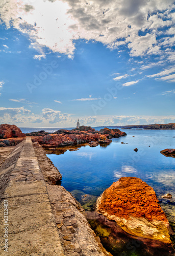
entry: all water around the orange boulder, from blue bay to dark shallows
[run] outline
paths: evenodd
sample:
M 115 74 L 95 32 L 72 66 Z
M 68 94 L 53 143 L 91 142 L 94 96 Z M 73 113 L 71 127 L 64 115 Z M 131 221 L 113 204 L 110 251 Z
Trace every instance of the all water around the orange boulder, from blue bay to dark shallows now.
M 175 148 L 173 130 L 123 130 L 128 135 L 114 138 L 107 147 L 79 147 L 78 151 L 66 151 L 61 155 L 48 155 L 62 174 L 62 185 L 72 193 L 86 210 L 93 210 L 96 197 L 101 195 L 120 177 L 138 177 L 156 191 L 161 207 L 170 223 L 171 241 L 175 245 L 175 158 L 160 153 L 165 148 Z M 134 137 L 133 137 L 134 136 Z M 126 144 L 121 144 L 124 142 Z M 128 143 L 128 144 L 127 144 Z M 138 148 L 138 152 L 134 148 Z M 172 199 L 161 196 L 170 193 Z M 84 195 L 87 194 L 86 197 Z M 93 211 L 89 212 L 93 215 Z M 103 246 L 113 256 L 174 256 L 167 245 L 152 245 L 149 240 L 137 245 L 137 237 L 117 233 L 114 222 L 100 222 L 98 217 L 89 223 Z M 109 223 L 108 223 L 109 222 Z M 107 224 L 108 223 L 108 224 Z M 137 246 L 133 247 L 133 243 Z M 161 247 L 162 246 L 162 247 Z M 133 248 L 133 250 L 131 250 Z

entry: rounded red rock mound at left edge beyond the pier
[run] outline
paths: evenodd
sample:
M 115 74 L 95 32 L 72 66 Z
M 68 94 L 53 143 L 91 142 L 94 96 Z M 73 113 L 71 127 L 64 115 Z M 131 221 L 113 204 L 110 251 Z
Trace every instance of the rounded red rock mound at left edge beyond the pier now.
M 7 139 L 12 137 L 26 137 L 25 134 L 16 125 L 1 124 L 0 125 L 0 139 Z

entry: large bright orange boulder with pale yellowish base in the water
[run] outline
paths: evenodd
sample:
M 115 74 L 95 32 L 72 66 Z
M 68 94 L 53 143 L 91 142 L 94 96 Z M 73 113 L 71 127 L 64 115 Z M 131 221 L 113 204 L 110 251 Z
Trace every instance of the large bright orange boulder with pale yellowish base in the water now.
M 97 199 L 96 210 L 135 236 L 171 243 L 169 222 L 151 186 L 122 177 Z

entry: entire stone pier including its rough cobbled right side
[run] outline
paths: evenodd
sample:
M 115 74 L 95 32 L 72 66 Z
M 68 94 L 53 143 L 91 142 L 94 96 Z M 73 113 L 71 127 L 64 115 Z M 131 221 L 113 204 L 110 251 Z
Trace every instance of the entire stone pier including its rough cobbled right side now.
M 30 137 L 14 147 L 0 168 L 1 255 L 110 255 L 60 179 Z

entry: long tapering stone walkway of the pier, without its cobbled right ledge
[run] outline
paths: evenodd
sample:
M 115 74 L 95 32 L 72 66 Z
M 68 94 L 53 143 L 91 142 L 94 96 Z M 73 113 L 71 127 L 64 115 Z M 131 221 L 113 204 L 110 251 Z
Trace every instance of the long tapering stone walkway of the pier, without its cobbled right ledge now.
M 18 144 L 2 165 L 0 191 L 1 220 L 7 212 L 4 202 L 8 202 L 8 222 L 0 227 L 1 234 L 8 227 L 8 252 L 2 235 L 1 255 L 65 255 L 30 137 Z

